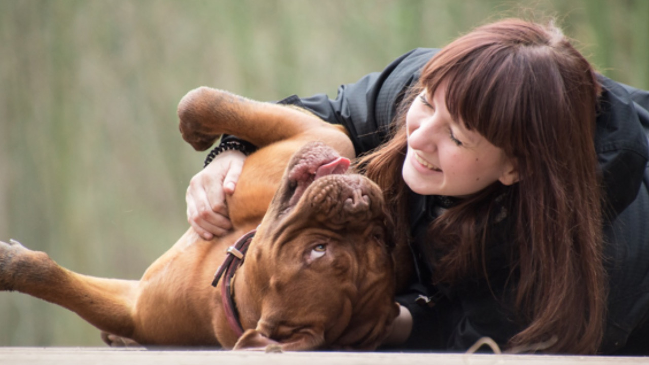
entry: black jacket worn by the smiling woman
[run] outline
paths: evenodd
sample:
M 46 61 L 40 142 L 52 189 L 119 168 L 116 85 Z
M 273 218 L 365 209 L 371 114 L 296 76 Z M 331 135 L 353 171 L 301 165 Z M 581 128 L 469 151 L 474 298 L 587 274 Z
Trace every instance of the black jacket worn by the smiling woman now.
M 344 125 L 352 136 L 356 154 L 384 142 L 387 126 L 396 114 L 404 90 L 417 81 L 420 70 L 436 49 L 415 49 L 398 58 L 384 71 L 371 73 L 354 84 L 343 85 L 336 99 L 320 94 L 300 99 L 297 95 L 280 103 L 300 105 L 329 121 Z M 610 294 L 607 327 L 601 351 L 624 350 L 628 339 L 644 338 L 643 324 L 649 316 L 649 93 L 600 76 L 604 87 L 597 118 L 596 150 L 607 198 L 606 268 Z M 417 275 L 410 290 L 398 296 L 413 315 L 413 332 L 406 347 L 464 351 L 482 336 L 505 344 L 520 325 L 506 300 L 502 284 L 509 273 L 506 249 L 492 255 L 489 283 L 476 278 L 445 288 L 430 284 L 430 268 L 419 246 L 426 244 L 423 231 L 439 207 L 435 197 L 412 194 L 411 243 Z M 508 231 L 504 220 L 502 232 Z M 502 238 L 505 240 L 505 238 Z M 497 244 L 496 244 L 497 246 Z M 422 304 L 424 296 L 433 307 Z M 649 329 L 649 323 L 646 327 Z M 631 344 L 629 346 L 632 346 Z M 642 347 L 644 348 L 644 347 Z

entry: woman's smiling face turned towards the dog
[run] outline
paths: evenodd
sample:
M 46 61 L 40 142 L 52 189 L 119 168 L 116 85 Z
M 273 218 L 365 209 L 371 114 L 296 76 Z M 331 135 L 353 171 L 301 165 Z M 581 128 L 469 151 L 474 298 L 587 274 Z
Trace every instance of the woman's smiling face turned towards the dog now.
M 495 181 L 515 183 L 515 165 L 504 151 L 452 120 L 445 94 L 445 84 L 434 95 L 424 90 L 408 110 L 406 184 L 417 194 L 465 197 Z

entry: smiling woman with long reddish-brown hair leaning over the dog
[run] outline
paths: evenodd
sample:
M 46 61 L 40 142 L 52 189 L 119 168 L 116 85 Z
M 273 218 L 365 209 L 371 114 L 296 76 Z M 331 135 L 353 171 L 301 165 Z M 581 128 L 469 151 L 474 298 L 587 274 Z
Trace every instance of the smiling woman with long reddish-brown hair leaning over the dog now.
M 396 212 L 417 270 L 393 342 L 611 353 L 633 351 L 649 313 L 648 100 L 596 75 L 556 27 L 508 19 L 336 100 L 283 102 L 345 125 Z M 228 151 L 192 179 L 188 217 L 206 237 L 228 228 L 220 202 L 242 160 Z

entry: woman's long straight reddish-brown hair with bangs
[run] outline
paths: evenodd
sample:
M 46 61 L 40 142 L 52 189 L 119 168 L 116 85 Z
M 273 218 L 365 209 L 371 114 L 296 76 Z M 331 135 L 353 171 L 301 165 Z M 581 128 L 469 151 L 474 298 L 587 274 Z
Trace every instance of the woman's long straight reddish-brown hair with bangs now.
M 600 86 L 593 68 L 554 25 L 519 19 L 484 25 L 439 51 L 404 97 L 393 138 L 360 160 L 384 188 L 402 240 L 409 231 L 401 177 L 405 111 L 423 88 L 432 94 L 441 82 L 448 84 L 452 118 L 513 158 L 520 180 L 510 187 L 496 182 L 432 223 L 431 251 L 443 253 L 434 280 L 452 284 L 485 271 L 495 220 L 489 214 L 498 200 L 511 220 L 514 304 L 526 326 L 508 345 L 556 335 L 548 351 L 595 353 L 607 291 L 594 149 Z

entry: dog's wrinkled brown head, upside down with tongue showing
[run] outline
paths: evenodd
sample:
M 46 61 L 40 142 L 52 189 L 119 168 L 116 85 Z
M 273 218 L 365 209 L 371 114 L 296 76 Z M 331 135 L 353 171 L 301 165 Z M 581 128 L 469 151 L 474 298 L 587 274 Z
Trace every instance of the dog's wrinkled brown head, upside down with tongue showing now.
M 235 348 L 374 349 L 398 314 L 382 192 L 349 160 L 293 155 L 246 257 L 258 322 Z

